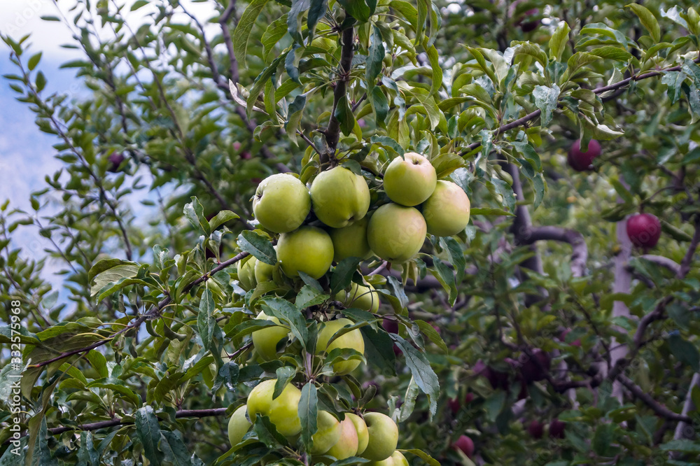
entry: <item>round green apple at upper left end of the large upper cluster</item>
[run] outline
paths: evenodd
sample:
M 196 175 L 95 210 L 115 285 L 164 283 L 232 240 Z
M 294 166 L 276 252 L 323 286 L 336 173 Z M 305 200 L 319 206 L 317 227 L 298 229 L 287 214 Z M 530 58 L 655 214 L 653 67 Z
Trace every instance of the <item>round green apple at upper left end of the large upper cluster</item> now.
M 253 196 L 253 213 L 271 232 L 296 230 L 311 211 L 311 196 L 304 183 L 290 174 L 276 174 L 260 181 Z

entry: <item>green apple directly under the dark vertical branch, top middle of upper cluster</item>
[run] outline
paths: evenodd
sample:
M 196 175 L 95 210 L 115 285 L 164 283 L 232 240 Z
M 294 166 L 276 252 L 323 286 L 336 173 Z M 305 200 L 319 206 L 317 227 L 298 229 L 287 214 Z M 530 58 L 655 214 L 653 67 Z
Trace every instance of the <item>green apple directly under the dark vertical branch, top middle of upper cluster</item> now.
M 370 188 L 365 178 L 344 167 L 321 171 L 311 183 L 311 205 L 325 225 L 346 227 L 367 213 Z

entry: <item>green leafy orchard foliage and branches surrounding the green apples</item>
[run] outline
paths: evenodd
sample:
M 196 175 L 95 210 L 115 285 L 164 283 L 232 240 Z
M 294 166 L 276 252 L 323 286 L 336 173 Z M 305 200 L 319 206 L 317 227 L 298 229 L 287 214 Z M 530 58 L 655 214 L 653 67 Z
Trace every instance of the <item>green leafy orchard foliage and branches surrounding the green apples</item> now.
M 89 97 L 49 94 L 31 38 L 2 36 L 6 82 L 64 168 L 30 209 L 1 206 L 24 367 L 14 414 L 18 355 L 1 354 L 1 464 L 367 464 L 309 454 L 321 411 L 388 414 L 412 465 L 700 463 L 694 2 L 67 3 L 44 19 L 73 31 L 81 58 L 62 66 Z M 468 195 L 464 230 L 402 264 L 285 274 L 253 220 L 262 179 L 345 167 L 372 215 L 411 152 Z M 638 213 L 658 223 L 630 239 Z M 650 250 L 636 235 L 657 225 Z M 61 287 L 12 241 L 29 234 Z M 369 285 L 378 309 L 348 297 Z M 316 352 L 334 313 L 363 352 Z M 2 318 L 9 345 L 10 304 Z M 263 358 L 253 334 L 280 324 Z M 272 379 L 300 390 L 298 437 L 248 400 L 230 445 Z

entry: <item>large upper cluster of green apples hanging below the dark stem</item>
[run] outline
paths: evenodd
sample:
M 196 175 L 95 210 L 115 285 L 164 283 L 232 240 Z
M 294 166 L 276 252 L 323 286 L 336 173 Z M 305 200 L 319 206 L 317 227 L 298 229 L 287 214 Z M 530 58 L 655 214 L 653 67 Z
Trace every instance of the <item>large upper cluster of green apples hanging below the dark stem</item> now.
M 383 181 L 391 202 L 372 210 L 363 176 L 342 166 L 322 171 L 310 189 L 290 174 L 261 181 L 253 213 L 265 230 L 279 233 L 275 249 L 283 273 L 295 278 L 302 271 L 321 278 L 334 261 L 372 255 L 401 264 L 421 250 L 426 233 L 452 236 L 469 223 L 465 192 L 451 181 L 438 181 L 423 155 L 395 157 Z M 312 209 L 323 228 L 304 225 Z M 274 270 L 251 259 L 239 265 L 239 281 L 243 288 L 254 288 L 260 281 L 279 279 Z

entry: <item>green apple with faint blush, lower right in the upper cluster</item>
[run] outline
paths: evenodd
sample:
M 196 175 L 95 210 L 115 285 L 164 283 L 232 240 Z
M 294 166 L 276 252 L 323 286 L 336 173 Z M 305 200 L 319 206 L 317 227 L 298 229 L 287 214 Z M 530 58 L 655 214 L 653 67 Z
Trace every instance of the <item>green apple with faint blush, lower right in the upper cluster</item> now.
M 417 209 L 384 204 L 370 218 L 367 242 L 382 259 L 402 263 L 421 250 L 426 231 L 426 220 Z

